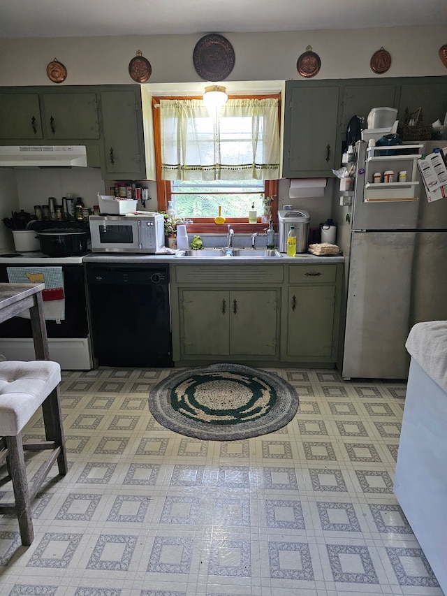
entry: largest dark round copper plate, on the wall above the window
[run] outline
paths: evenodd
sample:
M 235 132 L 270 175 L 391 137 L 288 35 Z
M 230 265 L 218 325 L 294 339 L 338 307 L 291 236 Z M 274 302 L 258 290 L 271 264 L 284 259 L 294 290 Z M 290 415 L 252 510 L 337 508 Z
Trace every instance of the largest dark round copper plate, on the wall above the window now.
M 196 73 L 205 80 L 226 79 L 235 65 L 235 52 L 228 39 L 212 33 L 196 43 L 193 51 Z

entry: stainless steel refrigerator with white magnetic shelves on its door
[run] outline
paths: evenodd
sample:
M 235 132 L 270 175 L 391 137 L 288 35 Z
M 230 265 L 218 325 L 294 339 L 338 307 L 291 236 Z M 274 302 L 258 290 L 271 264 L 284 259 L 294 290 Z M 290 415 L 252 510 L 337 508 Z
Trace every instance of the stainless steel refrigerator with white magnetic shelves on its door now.
M 411 177 L 411 163 L 368 163 L 367 143 L 357 147 L 353 204 L 340 230 L 349 238 L 342 377 L 406 379 L 411 327 L 447 319 L 447 198 L 429 203 L 416 167 L 413 183 L 404 186 L 414 190 L 410 200 L 365 200 L 386 190 L 372 187 L 374 170 L 394 169 L 397 176 L 402 169 Z

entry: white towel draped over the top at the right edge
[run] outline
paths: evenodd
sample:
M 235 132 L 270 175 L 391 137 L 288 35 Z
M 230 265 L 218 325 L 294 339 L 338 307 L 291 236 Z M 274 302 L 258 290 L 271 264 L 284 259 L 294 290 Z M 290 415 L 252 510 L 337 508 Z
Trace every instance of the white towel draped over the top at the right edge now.
M 416 323 L 405 347 L 430 379 L 447 391 L 447 321 Z

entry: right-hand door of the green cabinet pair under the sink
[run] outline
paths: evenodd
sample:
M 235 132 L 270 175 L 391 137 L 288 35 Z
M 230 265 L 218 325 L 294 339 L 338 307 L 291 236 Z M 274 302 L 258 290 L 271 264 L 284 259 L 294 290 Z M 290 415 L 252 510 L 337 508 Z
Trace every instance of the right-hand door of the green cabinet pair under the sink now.
M 230 354 L 276 356 L 277 290 L 230 292 Z

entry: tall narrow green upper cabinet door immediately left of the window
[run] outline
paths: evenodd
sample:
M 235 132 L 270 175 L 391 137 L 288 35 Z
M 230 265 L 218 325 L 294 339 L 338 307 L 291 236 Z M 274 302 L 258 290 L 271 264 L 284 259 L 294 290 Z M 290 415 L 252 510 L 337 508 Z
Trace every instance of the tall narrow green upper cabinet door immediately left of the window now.
M 142 122 L 133 91 L 101 93 L 105 172 L 122 177 L 144 177 Z

